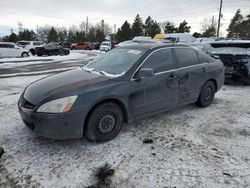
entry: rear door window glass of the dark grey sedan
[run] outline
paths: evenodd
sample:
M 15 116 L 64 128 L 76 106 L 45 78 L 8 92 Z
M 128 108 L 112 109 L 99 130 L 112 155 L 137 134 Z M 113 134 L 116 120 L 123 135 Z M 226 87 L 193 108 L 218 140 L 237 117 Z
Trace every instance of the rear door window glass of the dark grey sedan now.
M 176 48 L 176 59 L 178 68 L 199 64 L 196 51 L 191 48 Z

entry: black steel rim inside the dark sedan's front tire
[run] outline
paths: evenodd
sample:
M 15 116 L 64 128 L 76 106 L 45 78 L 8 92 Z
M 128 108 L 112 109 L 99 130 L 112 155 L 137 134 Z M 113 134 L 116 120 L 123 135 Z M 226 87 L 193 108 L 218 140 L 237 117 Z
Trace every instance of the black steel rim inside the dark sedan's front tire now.
M 113 112 L 103 113 L 97 124 L 97 131 L 99 134 L 105 135 L 113 131 L 116 125 L 116 115 Z

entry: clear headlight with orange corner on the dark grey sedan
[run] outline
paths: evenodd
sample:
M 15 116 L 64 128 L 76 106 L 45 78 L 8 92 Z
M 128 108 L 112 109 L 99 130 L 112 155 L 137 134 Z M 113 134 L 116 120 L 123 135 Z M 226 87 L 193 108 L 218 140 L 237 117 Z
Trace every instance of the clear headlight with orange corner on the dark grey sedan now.
M 59 113 L 59 112 L 68 112 L 73 106 L 77 95 L 64 97 L 49 101 L 37 109 L 37 112 L 47 112 L 47 113 Z

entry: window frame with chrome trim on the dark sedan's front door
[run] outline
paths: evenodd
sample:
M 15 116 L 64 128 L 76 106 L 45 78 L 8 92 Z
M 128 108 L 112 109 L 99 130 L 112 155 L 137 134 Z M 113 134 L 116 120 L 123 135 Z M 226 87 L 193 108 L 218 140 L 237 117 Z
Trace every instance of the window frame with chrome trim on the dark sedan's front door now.
M 171 49 L 171 51 L 172 51 L 172 56 L 173 56 L 173 65 L 174 65 L 173 69 L 172 69 L 172 70 L 167 70 L 167 71 L 162 71 L 162 72 L 154 73 L 154 76 L 155 76 L 155 75 L 159 75 L 159 74 L 164 74 L 164 73 L 167 73 L 167 72 L 170 72 L 170 71 L 173 71 L 173 70 L 176 70 L 176 68 L 177 68 L 177 67 L 176 67 L 176 57 L 175 57 L 175 55 L 174 55 L 173 47 L 158 48 L 158 49 L 155 49 L 154 51 L 150 52 L 150 53 L 147 55 L 147 57 L 146 57 L 146 58 L 142 61 L 142 63 L 137 67 L 136 71 L 132 74 L 132 77 L 131 77 L 130 81 L 136 80 L 136 78 L 135 78 L 136 73 L 140 70 L 140 68 L 142 67 L 142 65 L 146 62 L 146 60 L 147 60 L 153 53 L 155 53 L 155 52 L 157 52 L 157 51 L 160 51 L 160 50 L 169 49 L 169 48 Z

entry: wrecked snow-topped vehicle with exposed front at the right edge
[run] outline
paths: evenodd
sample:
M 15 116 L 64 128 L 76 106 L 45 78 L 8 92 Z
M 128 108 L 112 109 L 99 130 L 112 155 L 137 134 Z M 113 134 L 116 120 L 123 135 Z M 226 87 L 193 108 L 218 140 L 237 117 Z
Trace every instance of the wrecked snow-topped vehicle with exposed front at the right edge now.
M 203 47 L 203 51 L 225 65 L 227 82 L 250 84 L 250 41 L 224 40 L 211 42 Z

